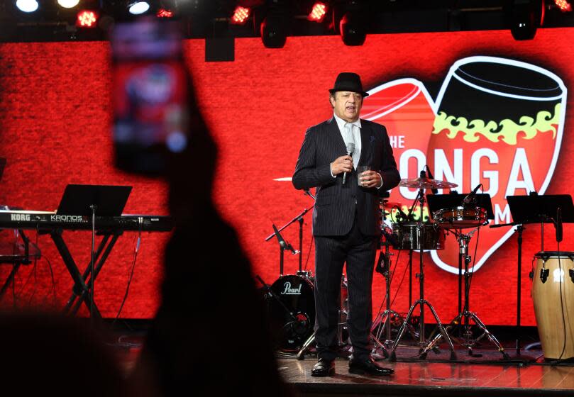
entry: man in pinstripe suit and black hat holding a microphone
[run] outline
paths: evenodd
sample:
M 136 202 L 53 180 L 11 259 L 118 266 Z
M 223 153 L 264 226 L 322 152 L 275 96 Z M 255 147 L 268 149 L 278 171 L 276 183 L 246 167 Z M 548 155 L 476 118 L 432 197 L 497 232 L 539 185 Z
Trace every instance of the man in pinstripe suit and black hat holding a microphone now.
M 339 74 L 329 91 L 333 117 L 307 130 L 293 175 L 295 189 L 316 187 L 313 235 L 319 361 L 311 375 L 334 374 L 338 295 L 345 262 L 347 324 L 353 345 L 349 372 L 389 375 L 392 369 L 379 367 L 370 358 L 371 284 L 380 236 L 379 197 L 397 186 L 400 176 L 385 127 L 359 118 L 368 93 L 358 74 Z M 371 171 L 362 174 L 359 185 L 355 169 L 363 165 Z

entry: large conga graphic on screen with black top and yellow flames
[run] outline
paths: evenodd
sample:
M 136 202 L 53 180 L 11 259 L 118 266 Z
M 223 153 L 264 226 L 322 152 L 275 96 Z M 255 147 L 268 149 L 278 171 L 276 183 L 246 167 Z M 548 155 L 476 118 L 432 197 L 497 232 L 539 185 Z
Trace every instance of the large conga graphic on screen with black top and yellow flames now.
M 455 62 L 436 99 L 427 152 L 436 179 L 465 193 L 478 184 L 492 197 L 495 223 L 511 221 L 506 196 L 543 194 L 560 151 L 566 88 L 546 69 L 497 57 Z M 474 271 L 514 229 L 482 228 Z M 458 243 L 431 252 L 434 262 L 458 273 Z

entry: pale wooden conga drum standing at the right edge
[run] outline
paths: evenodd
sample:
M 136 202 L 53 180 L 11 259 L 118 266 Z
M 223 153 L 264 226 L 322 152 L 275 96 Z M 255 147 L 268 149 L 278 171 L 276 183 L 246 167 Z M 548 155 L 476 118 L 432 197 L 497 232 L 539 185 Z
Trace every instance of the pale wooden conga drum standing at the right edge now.
M 531 295 L 544 358 L 570 359 L 574 357 L 574 282 L 570 276 L 574 252 L 539 252 L 534 258 Z

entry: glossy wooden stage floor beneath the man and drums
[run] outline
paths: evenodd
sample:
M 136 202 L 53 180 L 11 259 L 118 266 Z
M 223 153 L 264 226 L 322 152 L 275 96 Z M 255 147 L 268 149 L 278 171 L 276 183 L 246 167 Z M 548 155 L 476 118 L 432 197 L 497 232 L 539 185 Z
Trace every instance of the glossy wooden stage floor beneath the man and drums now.
M 457 352 L 459 354 L 459 352 Z M 462 352 L 464 353 L 464 352 Z M 492 353 L 497 353 L 496 351 Z M 279 358 L 283 379 L 302 396 L 573 396 L 574 366 L 552 366 L 543 360 L 483 362 L 457 360 L 379 361 L 394 369 L 392 376 L 360 376 L 348 373 L 347 359 L 336 360 L 335 376 L 311 376 L 316 362 Z M 460 357 L 460 354 L 459 354 Z M 516 357 L 514 355 L 514 357 Z M 522 357 L 522 355 L 521 355 Z

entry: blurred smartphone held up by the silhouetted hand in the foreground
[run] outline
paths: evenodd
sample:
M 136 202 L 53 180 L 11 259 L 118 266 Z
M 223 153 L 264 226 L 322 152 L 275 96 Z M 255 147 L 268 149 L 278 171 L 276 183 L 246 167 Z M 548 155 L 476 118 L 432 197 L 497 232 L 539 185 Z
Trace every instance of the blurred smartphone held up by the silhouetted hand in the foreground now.
M 180 25 L 159 18 L 111 32 L 114 156 L 119 169 L 161 175 L 189 144 Z

